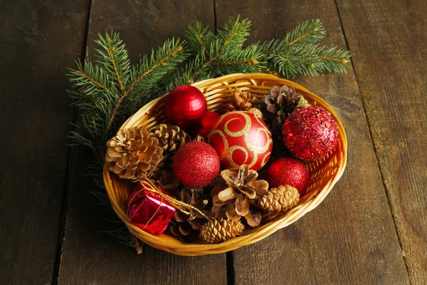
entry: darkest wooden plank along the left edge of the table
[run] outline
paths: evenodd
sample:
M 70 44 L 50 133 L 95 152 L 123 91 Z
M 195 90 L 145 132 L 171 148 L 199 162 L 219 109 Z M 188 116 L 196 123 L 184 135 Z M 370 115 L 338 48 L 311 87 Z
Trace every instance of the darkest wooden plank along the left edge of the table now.
M 69 123 L 66 67 L 83 48 L 88 1 L 1 1 L 1 284 L 49 284 Z

